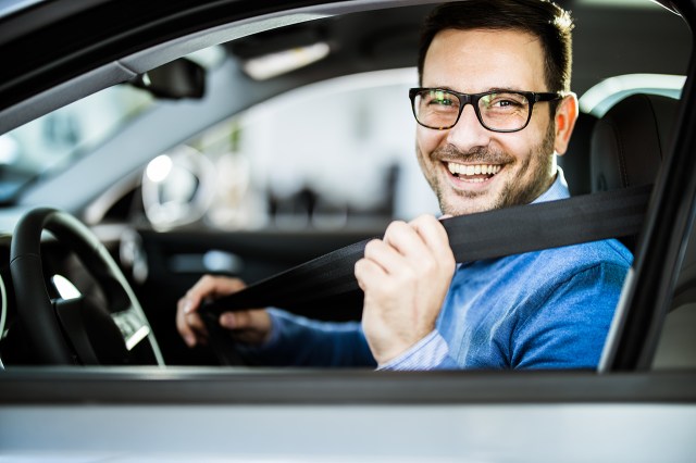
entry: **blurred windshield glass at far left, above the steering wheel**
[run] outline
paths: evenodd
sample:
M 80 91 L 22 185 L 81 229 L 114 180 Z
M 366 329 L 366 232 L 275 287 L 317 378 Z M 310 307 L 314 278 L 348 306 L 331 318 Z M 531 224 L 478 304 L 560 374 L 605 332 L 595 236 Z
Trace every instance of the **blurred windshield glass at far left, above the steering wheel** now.
M 0 136 L 0 202 L 13 202 L 30 182 L 75 162 L 152 102 L 148 92 L 120 85 Z

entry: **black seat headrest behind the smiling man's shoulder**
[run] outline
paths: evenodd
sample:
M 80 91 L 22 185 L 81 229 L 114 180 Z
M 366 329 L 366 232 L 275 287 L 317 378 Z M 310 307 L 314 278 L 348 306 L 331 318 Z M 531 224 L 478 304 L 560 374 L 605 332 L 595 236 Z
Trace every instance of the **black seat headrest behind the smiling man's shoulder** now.
M 663 96 L 632 95 L 595 124 L 589 160 L 593 192 L 655 183 L 678 104 Z

